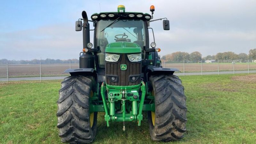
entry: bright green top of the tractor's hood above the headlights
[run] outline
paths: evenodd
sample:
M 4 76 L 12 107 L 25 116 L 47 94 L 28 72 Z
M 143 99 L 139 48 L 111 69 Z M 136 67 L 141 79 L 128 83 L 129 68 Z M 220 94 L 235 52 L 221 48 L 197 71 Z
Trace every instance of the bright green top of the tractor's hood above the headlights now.
M 107 53 L 141 53 L 139 44 L 131 42 L 115 42 L 106 46 Z

